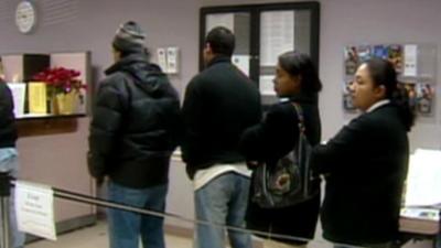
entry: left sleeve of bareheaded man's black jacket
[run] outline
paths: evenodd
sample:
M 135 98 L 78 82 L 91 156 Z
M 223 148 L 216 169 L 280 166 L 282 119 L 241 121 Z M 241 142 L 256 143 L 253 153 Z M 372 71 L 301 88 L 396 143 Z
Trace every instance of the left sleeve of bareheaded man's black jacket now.
M 182 159 L 185 163 L 194 163 L 197 153 L 203 147 L 202 140 L 202 118 L 203 99 L 201 89 L 197 87 L 196 80 L 190 82 L 182 107 L 182 118 L 185 127 L 184 139 L 181 143 Z

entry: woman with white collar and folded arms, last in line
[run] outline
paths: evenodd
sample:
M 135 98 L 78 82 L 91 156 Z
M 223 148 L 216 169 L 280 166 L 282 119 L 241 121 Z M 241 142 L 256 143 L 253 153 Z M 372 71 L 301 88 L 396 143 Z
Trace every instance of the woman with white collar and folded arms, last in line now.
M 311 155 L 312 168 L 326 175 L 323 236 L 334 244 L 390 247 L 398 234 L 413 112 L 385 60 L 362 64 L 351 89 L 363 114 Z

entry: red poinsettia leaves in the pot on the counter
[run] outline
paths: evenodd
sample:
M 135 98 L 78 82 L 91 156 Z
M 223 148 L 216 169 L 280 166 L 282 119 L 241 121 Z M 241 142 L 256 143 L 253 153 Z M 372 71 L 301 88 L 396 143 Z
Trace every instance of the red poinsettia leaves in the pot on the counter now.
M 78 78 L 80 75 L 80 72 L 75 69 L 54 67 L 37 73 L 32 79 L 46 83 L 49 89 L 54 90 L 55 94 L 71 93 L 73 90 L 86 88 L 86 85 Z

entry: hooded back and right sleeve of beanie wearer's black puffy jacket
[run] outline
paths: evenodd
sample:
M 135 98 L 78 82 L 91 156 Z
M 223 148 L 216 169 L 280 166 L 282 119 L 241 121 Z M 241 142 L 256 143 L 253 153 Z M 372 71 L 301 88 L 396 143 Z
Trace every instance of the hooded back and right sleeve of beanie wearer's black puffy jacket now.
M 181 129 L 178 93 L 143 55 L 128 56 L 106 73 L 103 87 L 118 88 L 127 100 L 109 176 L 132 187 L 168 183 L 169 160 Z

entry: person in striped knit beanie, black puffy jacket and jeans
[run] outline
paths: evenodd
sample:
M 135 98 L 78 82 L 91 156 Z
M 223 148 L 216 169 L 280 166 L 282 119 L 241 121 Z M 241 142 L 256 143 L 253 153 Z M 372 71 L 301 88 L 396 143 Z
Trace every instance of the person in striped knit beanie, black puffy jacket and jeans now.
M 180 101 L 148 61 L 135 22 L 114 39 L 115 64 L 99 84 L 89 137 L 89 171 L 109 177 L 108 200 L 164 212 L 171 155 L 179 143 Z M 163 218 L 108 209 L 111 248 L 164 248 Z

